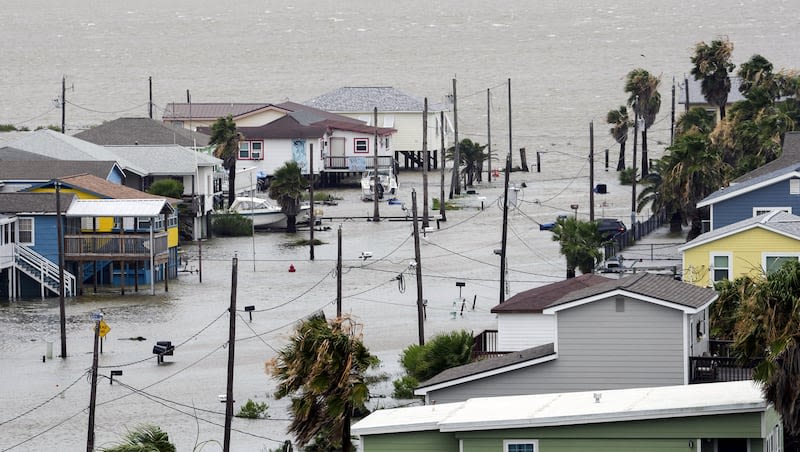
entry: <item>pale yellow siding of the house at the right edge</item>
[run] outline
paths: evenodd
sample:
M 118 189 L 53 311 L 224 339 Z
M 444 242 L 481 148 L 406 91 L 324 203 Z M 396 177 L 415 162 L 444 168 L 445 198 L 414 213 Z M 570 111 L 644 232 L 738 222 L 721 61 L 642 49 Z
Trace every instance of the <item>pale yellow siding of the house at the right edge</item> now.
M 683 280 L 700 287 L 708 287 L 711 256 L 726 253 L 733 256 L 731 275 L 734 279 L 744 275 L 756 276 L 763 271 L 764 253 L 800 253 L 800 241 L 761 228 L 722 237 L 684 251 Z

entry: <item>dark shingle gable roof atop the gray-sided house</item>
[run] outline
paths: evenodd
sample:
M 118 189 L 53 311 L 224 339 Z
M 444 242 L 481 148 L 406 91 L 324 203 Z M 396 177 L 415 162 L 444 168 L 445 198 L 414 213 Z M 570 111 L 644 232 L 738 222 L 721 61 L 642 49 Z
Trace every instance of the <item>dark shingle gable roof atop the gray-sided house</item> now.
M 549 309 L 587 298 L 602 296 L 603 294 L 622 291 L 629 295 L 640 295 L 654 298 L 678 306 L 701 308 L 716 299 L 717 293 L 713 289 L 697 287 L 682 281 L 677 281 L 671 276 L 653 273 L 637 273 L 620 279 L 611 279 L 606 283 L 597 284 L 586 289 L 570 292 L 548 306 Z

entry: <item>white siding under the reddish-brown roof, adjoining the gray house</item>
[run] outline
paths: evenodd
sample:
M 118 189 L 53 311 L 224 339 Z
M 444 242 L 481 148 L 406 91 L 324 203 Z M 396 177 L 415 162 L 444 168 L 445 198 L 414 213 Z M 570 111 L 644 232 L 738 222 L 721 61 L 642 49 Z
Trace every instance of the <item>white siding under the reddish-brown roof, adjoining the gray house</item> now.
M 497 316 L 497 349 L 504 352 L 549 344 L 556 339 L 552 314 L 507 313 Z

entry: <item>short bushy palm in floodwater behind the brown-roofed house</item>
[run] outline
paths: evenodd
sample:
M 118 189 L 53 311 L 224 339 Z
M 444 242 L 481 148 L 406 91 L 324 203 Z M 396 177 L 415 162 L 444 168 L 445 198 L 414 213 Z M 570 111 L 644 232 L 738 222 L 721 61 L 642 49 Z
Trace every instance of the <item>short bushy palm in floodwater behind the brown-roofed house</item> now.
M 559 251 L 567 258 L 567 278 L 575 277 L 576 268 L 584 274 L 592 273 L 603 259 L 603 237 L 596 222 L 559 218 L 553 228 L 553 241 L 559 243 Z

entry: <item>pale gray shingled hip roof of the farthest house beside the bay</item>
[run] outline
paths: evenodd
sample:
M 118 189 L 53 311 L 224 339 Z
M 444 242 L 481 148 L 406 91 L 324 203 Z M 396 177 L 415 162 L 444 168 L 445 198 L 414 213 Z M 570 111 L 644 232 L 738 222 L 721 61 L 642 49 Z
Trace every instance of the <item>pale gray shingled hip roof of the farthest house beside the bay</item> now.
M 422 112 L 422 99 L 413 97 L 391 86 L 345 86 L 303 102 L 322 110 L 342 113 Z M 428 105 L 428 111 L 442 110 Z

